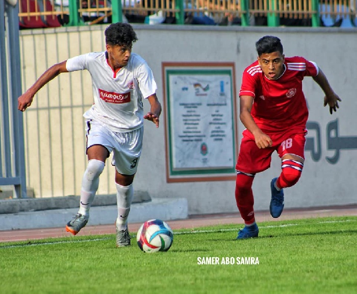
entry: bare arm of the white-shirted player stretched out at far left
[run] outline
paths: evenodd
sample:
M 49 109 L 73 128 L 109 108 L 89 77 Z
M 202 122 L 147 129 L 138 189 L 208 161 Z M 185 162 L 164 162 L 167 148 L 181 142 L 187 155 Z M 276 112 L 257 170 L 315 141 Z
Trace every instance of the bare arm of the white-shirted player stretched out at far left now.
M 28 108 L 33 99 L 35 94 L 50 80 L 56 78 L 61 72 L 68 72 L 66 68 L 66 60 L 60 63 L 57 63 L 50 68 L 48 68 L 41 77 L 21 96 L 17 99 L 17 109 L 20 111 L 25 111 Z

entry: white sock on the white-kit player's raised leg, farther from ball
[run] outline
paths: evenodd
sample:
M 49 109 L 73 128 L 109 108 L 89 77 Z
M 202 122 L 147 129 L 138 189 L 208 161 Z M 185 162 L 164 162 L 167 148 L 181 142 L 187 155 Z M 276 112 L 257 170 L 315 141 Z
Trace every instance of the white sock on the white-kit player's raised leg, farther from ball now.
M 87 169 L 82 179 L 81 201 L 79 213 L 89 218 L 90 205 L 94 200 L 95 193 L 99 186 L 99 176 L 103 172 L 105 163 L 100 160 L 91 159 L 88 161 Z

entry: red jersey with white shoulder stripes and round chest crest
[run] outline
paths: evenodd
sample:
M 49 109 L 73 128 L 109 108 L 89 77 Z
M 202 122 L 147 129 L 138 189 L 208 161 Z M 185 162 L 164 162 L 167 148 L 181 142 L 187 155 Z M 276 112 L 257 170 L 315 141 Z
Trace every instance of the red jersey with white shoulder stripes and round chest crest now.
M 244 70 L 239 96 L 254 98 L 250 113 L 263 132 L 303 130 L 309 112 L 302 80 L 305 76 L 315 77 L 318 72 L 315 62 L 298 56 L 287 57 L 283 74 L 277 80 L 269 80 L 257 60 Z

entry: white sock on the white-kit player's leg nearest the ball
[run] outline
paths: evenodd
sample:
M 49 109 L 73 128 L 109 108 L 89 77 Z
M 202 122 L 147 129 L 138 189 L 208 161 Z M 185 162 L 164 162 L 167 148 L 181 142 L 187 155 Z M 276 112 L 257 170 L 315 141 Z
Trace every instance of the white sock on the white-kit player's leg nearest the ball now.
M 121 186 L 115 183 L 117 193 L 117 207 L 118 218 L 116 220 L 116 227 L 118 230 L 125 230 L 127 227 L 127 217 L 129 216 L 130 206 L 134 198 L 133 184 L 129 186 Z

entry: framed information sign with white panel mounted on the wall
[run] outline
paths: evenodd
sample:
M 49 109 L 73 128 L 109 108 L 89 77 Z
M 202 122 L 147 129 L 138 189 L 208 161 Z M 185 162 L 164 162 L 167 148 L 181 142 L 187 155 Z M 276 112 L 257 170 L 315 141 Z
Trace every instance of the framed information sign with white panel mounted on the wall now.
M 167 182 L 233 180 L 234 63 L 163 63 Z

